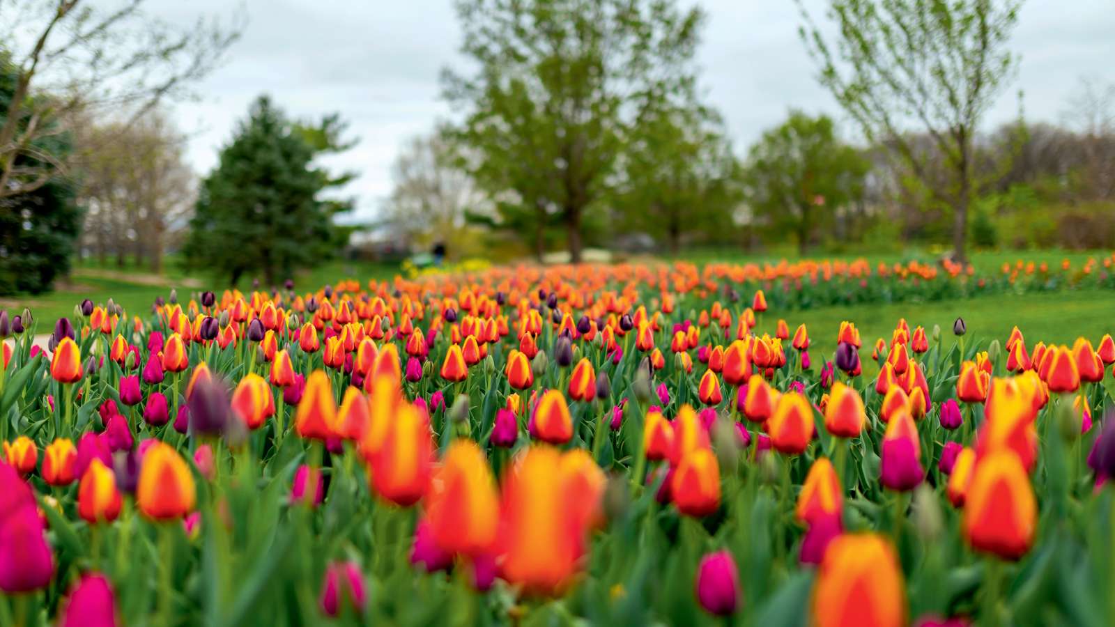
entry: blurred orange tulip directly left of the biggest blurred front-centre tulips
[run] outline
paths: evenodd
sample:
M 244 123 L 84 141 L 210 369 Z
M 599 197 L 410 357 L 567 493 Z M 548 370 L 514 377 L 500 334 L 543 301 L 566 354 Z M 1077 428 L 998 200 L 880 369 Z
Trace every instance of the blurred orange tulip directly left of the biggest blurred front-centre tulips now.
M 434 541 L 450 553 L 487 553 L 500 524 L 500 496 L 484 452 L 456 440 L 445 452 L 425 498 Z

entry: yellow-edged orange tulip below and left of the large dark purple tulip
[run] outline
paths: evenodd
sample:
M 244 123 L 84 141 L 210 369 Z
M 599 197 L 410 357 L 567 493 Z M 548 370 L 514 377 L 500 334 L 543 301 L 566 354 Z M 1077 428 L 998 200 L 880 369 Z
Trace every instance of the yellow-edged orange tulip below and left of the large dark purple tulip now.
M 139 511 L 152 520 L 180 519 L 194 509 L 194 476 L 173 446 L 156 442 L 144 453 L 136 488 Z

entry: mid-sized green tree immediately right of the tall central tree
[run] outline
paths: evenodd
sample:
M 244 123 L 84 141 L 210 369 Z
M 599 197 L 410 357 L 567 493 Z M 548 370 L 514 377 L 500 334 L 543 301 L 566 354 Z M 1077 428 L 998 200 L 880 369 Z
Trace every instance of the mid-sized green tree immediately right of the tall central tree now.
M 739 200 L 739 163 L 720 120 L 700 107 L 643 112 L 624 153 L 626 222 L 666 238 L 724 233 Z

